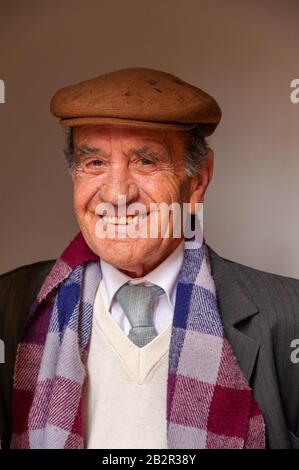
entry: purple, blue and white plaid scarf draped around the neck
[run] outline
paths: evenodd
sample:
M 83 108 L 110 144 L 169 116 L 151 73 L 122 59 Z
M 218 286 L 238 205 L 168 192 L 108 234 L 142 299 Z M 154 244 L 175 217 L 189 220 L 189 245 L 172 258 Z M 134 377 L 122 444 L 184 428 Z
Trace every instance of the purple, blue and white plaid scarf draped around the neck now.
M 190 242 L 189 242 L 190 243 Z M 82 386 L 101 280 L 79 233 L 56 261 L 18 346 L 12 448 L 83 448 Z M 225 338 L 205 242 L 184 251 L 167 380 L 169 448 L 264 448 L 263 417 Z

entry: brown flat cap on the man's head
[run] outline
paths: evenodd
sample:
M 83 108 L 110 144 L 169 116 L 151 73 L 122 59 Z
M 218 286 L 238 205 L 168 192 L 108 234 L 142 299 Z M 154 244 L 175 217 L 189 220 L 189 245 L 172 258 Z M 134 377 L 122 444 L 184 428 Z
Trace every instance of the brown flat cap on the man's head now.
M 210 95 L 159 70 L 128 68 L 58 90 L 51 112 L 63 127 L 118 124 L 212 134 L 221 109 Z

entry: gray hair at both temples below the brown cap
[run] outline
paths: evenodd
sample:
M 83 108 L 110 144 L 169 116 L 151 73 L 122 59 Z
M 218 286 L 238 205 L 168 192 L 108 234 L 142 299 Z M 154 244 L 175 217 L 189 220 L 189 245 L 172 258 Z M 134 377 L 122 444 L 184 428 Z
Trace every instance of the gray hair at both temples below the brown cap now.
M 182 132 L 185 139 L 185 169 L 189 177 L 194 176 L 199 169 L 206 163 L 209 147 L 205 137 L 204 128 L 197 126 L 189 131 Z M 66 146 L 64 155 L 69 170 L 72 172 L 76 165 L 76 155 L 73 144 L 73 130 L 71 127 L 66 128 Z

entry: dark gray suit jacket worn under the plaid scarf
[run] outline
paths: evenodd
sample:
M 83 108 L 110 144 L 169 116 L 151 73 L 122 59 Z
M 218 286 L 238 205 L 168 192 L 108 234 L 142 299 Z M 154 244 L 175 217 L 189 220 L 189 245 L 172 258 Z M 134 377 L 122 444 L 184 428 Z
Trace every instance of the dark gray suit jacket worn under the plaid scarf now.
M 266 423 L 268 448 L 299 449 L 299 280 L 229 261 L 210 247 L 217 299 L 227 338 Z M 9 447 L 11 393 L 17 345 L 30 306 L 54 261 L 23 266 L 0 276 L 0 437 Z M 299 355 L 298 355 L 299 356 Z

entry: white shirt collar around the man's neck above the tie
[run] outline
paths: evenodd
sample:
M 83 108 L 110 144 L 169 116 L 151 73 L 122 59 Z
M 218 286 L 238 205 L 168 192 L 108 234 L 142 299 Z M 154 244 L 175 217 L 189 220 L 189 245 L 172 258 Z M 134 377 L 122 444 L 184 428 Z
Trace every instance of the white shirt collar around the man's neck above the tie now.
M 183 263 L 184 257 L 184 240 L 176 247 L 176 249 L 155 269 L 150 271 L 143 277 L 132 278 L 122 273 L 114 266 L 101 259 L 101 270 L 103 275 L 103 283 L 108 300 L 108 309 L 112 306 L 114 294 L 126 282 L 130 284 L 140 284 L 141 282 L 156 284 L 165 290 L 168 301 L 174 307 L 175 291 L 178 275 Z

